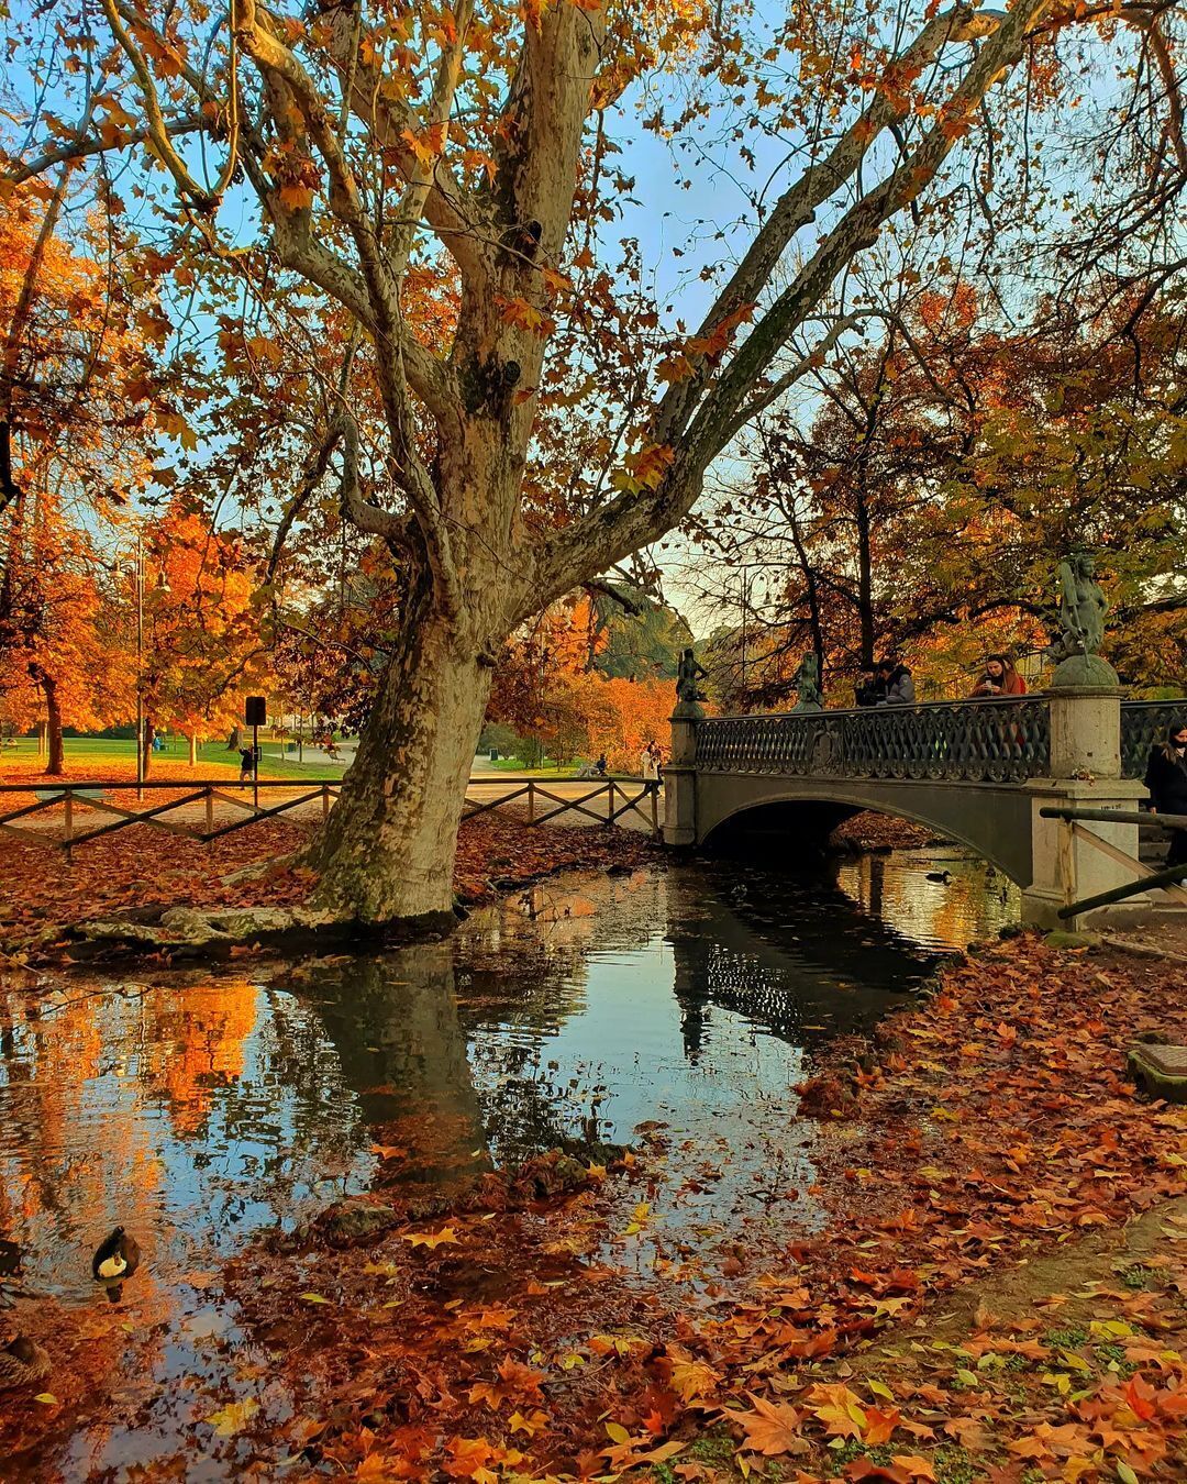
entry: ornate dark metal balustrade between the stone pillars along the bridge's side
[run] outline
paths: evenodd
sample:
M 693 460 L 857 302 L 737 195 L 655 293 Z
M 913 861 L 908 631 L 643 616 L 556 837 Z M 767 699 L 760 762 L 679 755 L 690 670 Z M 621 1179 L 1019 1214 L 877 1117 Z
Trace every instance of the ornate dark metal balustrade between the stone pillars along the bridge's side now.
M 706 773 L 918 778 L 1007 784 L 1046 775 L 1040 696 L 871 706 L 776 717 L 712 717 L 697 727 Z

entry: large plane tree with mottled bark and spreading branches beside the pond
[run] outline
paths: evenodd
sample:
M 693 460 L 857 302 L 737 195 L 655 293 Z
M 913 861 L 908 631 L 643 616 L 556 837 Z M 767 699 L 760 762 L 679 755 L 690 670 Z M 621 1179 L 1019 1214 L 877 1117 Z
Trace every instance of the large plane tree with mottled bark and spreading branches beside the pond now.
M 9 178 L 99 156 L 110 181 L 123 159 L 138 199 L 203 243 L 190 280 L 205 261 L 260 291 L 280 282 L 270 263 L 303 286 L 304 304 L 347 325 L 304 488 L 338 481 L 344 518 L 390 548 L 401 601 L 358 758 L 312 861 L 318 904 L 371 922 L 451 905 L 466 778 L 504 638 L 687 516 L 748 420 L 861 324 L 861 309 L 832 313 L 837 283 L 892 218 L 967 202 L 988 220 L 1006 159 L 1015 181 L 1034 168 L 1037 212 L 1025 128 L 1059 107 L 1061 89 L 1070 101 L 1068 79 L 1086 70 L 1140 135 L 1110 147 L 1119 175 L 1128 151 L 1138 181 L 1117 232 L 1142 202 L 1157 211 L 1183 168 L 1168 4 L 821 0 L 783 13 L 724 0 L 65 0 L 49 10 L 13 10 L 30 122 Z M 1140 108 L 1126 102 L 1135 76 Z M 64 99 L 76 95 L 70 116 Z M 645 125 L 674 157 L 681 139 L 696 157 L 712 119 L 737 171 L 766 183 L 745 220 L 717 223 L 717 261 L 702 245 L 681 319 L 668 295 L 648 298 L 641 267 L 623 270 L 626 283 L 601 266 L 608 243 L 617 252 L 617 197 L 650 188 L 629 175 L 629 145 L 616 151 Z M 736 199 L 721 211 L 734 215 Z M 439 326 L 420 332 L 407 288 L 445 261 L 454 309 L 442 338 Z M 622 355 L 635 332 L 654 350 L 638 368 Z M 604 423 L 607 476 L 558 466 L 565 488 L 540 516 L 540 441 L 546 424 L 556 438 L 558 414 Z

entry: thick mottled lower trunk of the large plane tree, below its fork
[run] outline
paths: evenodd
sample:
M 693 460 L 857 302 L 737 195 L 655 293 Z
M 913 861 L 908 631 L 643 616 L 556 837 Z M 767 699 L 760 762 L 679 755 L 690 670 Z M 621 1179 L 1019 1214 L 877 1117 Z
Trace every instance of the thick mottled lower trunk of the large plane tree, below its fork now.
M 383 672 L 341 798 L 306 859 L 315 905 L 362 922 L 454 922 L 454 855 L 491 672 L 453 625 L 408 623 Z

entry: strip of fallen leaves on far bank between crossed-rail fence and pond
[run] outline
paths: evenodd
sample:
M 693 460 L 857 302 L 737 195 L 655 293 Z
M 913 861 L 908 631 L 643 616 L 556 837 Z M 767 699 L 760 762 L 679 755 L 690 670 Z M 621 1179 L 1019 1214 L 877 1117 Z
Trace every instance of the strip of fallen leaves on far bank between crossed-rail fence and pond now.
M 309 898 L 312 871 L 289 858 L 309 827 L 282 819 L 200 844 L 129 825 L 64 855 L 36 841 L 0 838 L 0 929 L 4 953 L 47 962 L 47 945 L 71 923 L 128 910 L 174 907 L 291 907 Z M 542 825 L 528 828 L 506 813 L 461 825 L 454 887 L 467 904 L 487 901 L 555 871 L 580 867 L 634 868 L 656 864 L 650 840 L 629 830 Z M 263 874 L 246 867 L 269 864 Z

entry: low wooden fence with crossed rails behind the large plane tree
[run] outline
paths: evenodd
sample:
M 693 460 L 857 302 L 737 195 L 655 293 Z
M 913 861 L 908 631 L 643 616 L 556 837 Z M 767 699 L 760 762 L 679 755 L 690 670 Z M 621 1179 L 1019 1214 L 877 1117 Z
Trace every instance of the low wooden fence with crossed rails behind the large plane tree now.
M 191 781 L 151 779 L 144 784 L 129 782 L 128 779 L 95 779 L 77 784 L 50 784 L 42 781 L 0 784 L 0 806 L 3 806 L 6 797 L 13 794 L 37 795 L 31 804 L 22 804 L 18 809 L 0 813 L 0 834 L 65 850 L 67 856 L 77 846 L 89 840 L 98 840 L 102 835 L 114 834 L 117 830 L 141 824 L 153 830 L 163 830 L 169 834 L 184 835 L 188 840 L 209 844 L 211 840 L 234 834 L 237 830 L 246 830 L 248 825 L 258 824 L 261 819 L 276 819 L 279 815 L 300 809 L 304 804 L 313 804 L 318 800 L 320 800 L 322 818 L 325 818 L 329 813 L 331 803 L 343 788 L 338 781 L 319 778 L 270 778 L 248 785 L 251 797 L 243 798 L 231 792 L 234 787 L 226 778 Z M 509 792 L 502 792 L 497 798 L 472 797 L 478 789 L 488 789 L 491 787 L 502 787 L 509 789 Z M 512 810 L 519 824 L 543 825 L 570 810 L 596 824 L 619 824 L 626 815 L 634 813 L 650 828 L 653 835 L 659 835 L 660 785 L 654 779 L 607 779 L 595 788 L 583 788 L 576 797 L 558 794 L 556 787 L 556 784 L 545 787 L 536 779 L 518 779 L 513 775 L 503 778 L 472 778 L 466 785 L 466 803 L 461 818 L 472 819 L 475 815 L 504 809 L 509 804 L 518 804 L 521 800 L 525 800 L 525 812 L 521 809 Z M 276 804 L 261 807 L 260 792 L 277 788 L 295 792 L 297 797 L 282 798 Z M 126 807 L 125 804 L 114 803 L 110 797 L 111 794 L 131 792 L 132 789 L 145 789 L 150 792 L 169 789 L 172 794 L 180 794 L 181 797 L 166 798 L 163 803 L 150 804 L 147 809 Z M 605 797 L 604 809 L 589 807 L 602 797 Z M 552 807 L 540 809 L 542 800 Z M 215 824 L 215 803 L 242 810 L 243 816 L 231 819 L 228 824 Z M 175 810 L 194 810 L 197 806 L 202 806 L 200 827 L 185 819 L 165 818 Z M 53 815 L 59 809 L 62 812 L 62 828 L 59 831 L 28 828 L 18 824 L 18 821 L 30 821 L 33 816 Z M 116 818 L 101 825 L 91 825 L 80 830 L 76 818 L 79 810 L 93 810 L 95 813 L 114 815 Z

